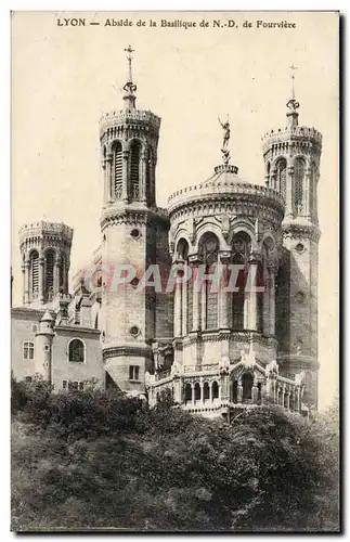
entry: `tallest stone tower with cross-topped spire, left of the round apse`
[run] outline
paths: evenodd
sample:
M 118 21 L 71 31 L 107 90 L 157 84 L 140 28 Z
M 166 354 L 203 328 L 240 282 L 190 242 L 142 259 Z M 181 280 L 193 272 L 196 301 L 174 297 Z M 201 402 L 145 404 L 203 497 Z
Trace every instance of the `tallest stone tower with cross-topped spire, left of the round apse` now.
M 168 218 L 156 207 L 155 171 L 160 118 L 135 106 L 131 53 L 124 87 L 124 109 L 100 121 L 104 197 L 102 232 L 102 349 L 106 385 L 144 391 L 145 371 L 152 370 L 152 341 L 169 336 L 163 294 L 140 282 L 150 263 L 167 266 Z M 125 268 L 127 266 L 127 268 Z M 130 278 L 118 284 L 122 270 Z M 157 310 L 158 308 L 158 310 Z

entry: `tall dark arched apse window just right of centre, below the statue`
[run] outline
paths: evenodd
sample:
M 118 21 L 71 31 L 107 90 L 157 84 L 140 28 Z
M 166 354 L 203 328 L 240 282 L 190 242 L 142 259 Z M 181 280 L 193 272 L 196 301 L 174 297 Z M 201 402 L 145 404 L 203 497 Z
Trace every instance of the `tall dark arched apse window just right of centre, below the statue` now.
M 233 237 L 232 242 L 233 258 L 232 263 L 244 266 L 238 272 L 235 287 L 238 292 L 232 293 L 232 327 L 235 331 L 244 330 L 244 300 L 245 287 L 248 275 L 248 256 L 250 251 L 250 238 L 242 232 Z

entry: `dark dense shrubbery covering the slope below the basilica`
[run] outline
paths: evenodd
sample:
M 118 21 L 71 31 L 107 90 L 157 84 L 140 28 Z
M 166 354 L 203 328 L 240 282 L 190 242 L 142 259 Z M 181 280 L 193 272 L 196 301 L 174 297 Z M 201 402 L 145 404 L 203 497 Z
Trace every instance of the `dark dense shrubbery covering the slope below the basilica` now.
M 276 408 L 232 424 L 169 397 L 12 385 L 12 528 L 337 530 L 336 410 Z

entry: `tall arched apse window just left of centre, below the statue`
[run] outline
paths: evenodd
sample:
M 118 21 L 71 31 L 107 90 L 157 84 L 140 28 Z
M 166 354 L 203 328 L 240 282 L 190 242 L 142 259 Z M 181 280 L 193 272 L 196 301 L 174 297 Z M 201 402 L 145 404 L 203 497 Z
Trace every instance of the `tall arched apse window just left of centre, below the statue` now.
M 215 273 L 218 266 L 219 241 L 216 235 L 208 233 L 199 244 L 199 254 L 205 274 Z M 202 283 L 202 328 L 215 330 L 218 327 L 218 287 L 212 281 L 203 281 Z

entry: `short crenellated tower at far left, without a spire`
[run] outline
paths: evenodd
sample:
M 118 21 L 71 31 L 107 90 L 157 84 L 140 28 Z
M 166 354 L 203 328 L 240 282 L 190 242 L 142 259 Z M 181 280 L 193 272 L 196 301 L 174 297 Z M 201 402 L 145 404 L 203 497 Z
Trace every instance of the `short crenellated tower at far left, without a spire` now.
M 68 292 L 73 230 L 41 220 L 20 230 L 23 304 L 40 306 Z

